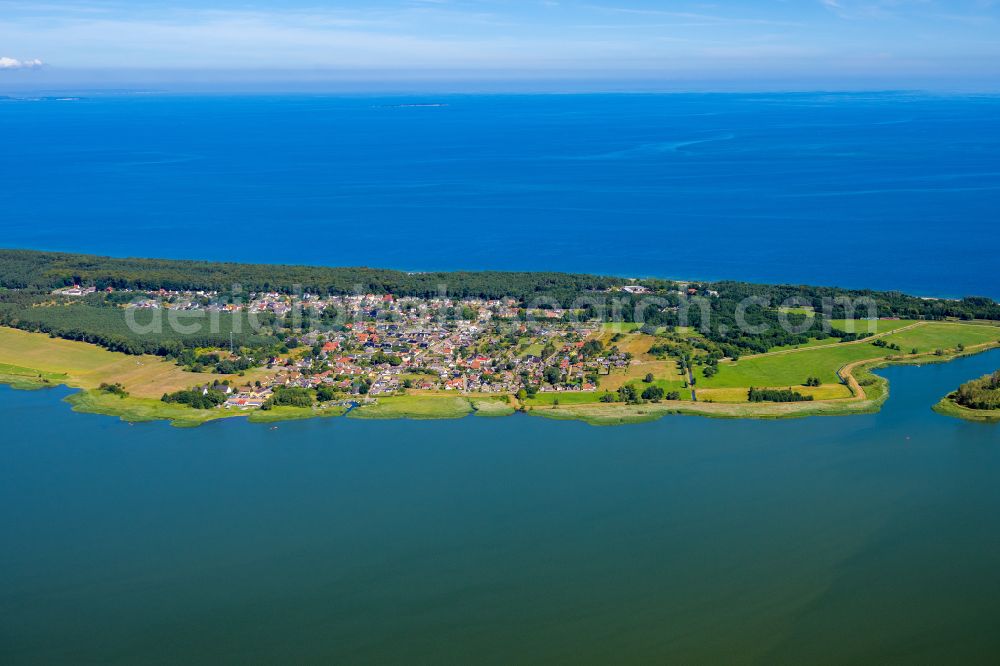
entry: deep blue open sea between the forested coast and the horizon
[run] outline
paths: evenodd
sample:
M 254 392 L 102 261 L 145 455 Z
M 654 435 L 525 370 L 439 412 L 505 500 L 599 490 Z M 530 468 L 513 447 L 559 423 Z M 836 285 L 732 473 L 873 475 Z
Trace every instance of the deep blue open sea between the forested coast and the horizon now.
M 997 96 L 0 101 L 6 247 L 1000 297 L 998 211 Z

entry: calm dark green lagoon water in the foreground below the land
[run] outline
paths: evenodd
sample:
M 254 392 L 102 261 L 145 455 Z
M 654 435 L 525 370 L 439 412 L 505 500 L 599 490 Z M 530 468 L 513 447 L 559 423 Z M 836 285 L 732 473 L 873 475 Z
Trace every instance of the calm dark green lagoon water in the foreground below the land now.
M 0 388 L 0 663 L 997 663 L 1000 426 L 193 430 Z

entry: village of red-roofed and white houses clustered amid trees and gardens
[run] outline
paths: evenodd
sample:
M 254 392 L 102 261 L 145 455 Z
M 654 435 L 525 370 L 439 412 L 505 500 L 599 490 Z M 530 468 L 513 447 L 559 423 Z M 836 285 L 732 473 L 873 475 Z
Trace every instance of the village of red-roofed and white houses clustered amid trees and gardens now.
M 275 391 L 287 388 L 323 389 L 319 396 L 344 404 L 414 391 L 596 391 L 601 375 L 631 362 L 631 354 L 593 339 L 600 324 L 574 321 L 572 312 L 557 307 L 526 313 L 513 299 L 272 292 L 249 294 L 241 303 L 216 292 L 169 290 L 127 296 L 125 308 L 243 312 L 249 323 L 273 331 L 280 344 L 266 357 L 237 347 L 198 351 L 197 359 L 221 361 L 256 352 L 246 384 L 201 386 L 206 394 L 221 392 L 222 406 L 230 409 L 267 408 Z

